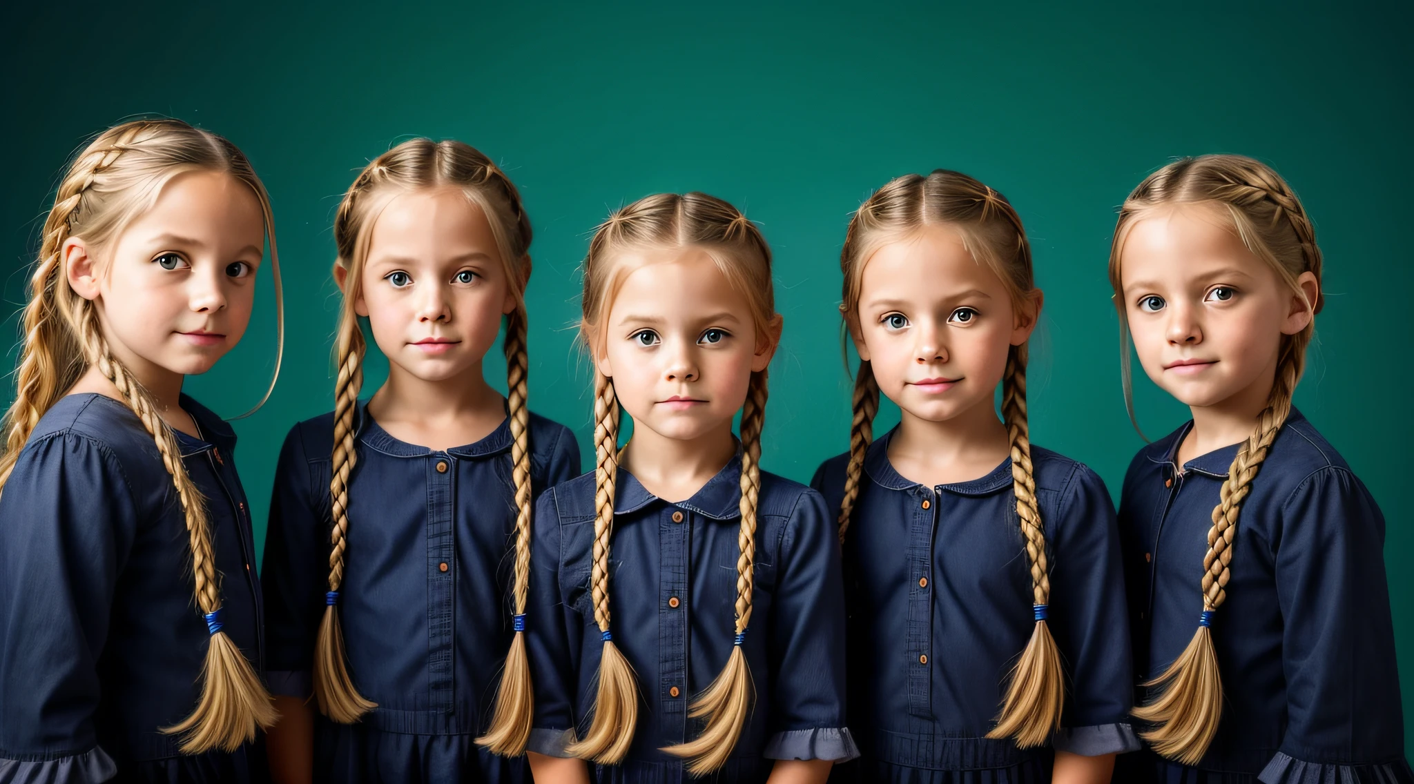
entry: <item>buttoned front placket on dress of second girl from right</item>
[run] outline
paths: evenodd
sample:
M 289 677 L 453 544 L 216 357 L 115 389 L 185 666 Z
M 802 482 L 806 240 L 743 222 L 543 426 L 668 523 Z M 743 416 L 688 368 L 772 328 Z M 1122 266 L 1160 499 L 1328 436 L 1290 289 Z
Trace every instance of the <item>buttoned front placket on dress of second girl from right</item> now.
M 909 493 L 913 514 L 908 531 L 908 712 L 932 719 L 932 672 L 928 661 L 933 644 L 933 590 L 926 582 L 933 574 L 933 535 L 937 528 L 937 493 L 916 486 Z

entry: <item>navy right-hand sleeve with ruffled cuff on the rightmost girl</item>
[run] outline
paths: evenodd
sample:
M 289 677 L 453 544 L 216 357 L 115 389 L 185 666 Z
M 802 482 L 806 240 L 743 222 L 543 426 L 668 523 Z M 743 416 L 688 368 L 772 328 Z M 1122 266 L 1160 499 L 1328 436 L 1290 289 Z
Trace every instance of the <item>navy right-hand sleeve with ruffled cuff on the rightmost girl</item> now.
M 1349 470 L 1324 468 L 1282 504 L 1273 547 L 1287 733 L 1261 781 L 1414 781 L 1374 500 Z

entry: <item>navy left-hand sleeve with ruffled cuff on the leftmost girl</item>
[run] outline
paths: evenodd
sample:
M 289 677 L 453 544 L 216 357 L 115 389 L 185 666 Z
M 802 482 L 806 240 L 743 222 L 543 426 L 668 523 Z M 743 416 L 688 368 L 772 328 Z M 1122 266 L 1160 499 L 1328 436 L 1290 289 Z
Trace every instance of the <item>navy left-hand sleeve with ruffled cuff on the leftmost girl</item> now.
M 0 780 L 102 781 L 98 660 L 139 513 L 117 459 L 57 434 L 0 494 Z

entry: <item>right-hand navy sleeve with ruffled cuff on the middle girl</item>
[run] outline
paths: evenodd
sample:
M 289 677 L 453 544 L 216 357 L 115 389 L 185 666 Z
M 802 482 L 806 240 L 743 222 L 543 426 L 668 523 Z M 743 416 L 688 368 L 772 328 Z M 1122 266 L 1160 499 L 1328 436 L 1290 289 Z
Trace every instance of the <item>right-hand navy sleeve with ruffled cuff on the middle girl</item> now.
M 781 542 L 769 634 L 771 737 L 776 760 L 858 756 L 844 716 L 844 588 L 840 545 L 824 499 L 803 492 Z

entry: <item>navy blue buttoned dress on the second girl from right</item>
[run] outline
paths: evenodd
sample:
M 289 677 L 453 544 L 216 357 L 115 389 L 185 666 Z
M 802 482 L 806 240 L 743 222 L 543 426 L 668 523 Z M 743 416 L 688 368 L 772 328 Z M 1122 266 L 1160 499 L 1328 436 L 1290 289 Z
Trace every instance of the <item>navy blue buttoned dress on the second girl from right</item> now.
M 1100 477 L 1031 448 L 1051 564 L 1048 623 L 1068 688 L 1051 747 L 1022 750 L 986 737 L 1035 627 L 1011 461 L 981 479 L 928 487 L 889 463 L 896 432 L 865 453 L 844 541 L 850 727 L 861 757 L 834 780 L 1042 783 L 1052 749 L 1138 749 L 1118 531 Z M 848 459 L 826 461 L 812 482 L 836 517 Z

